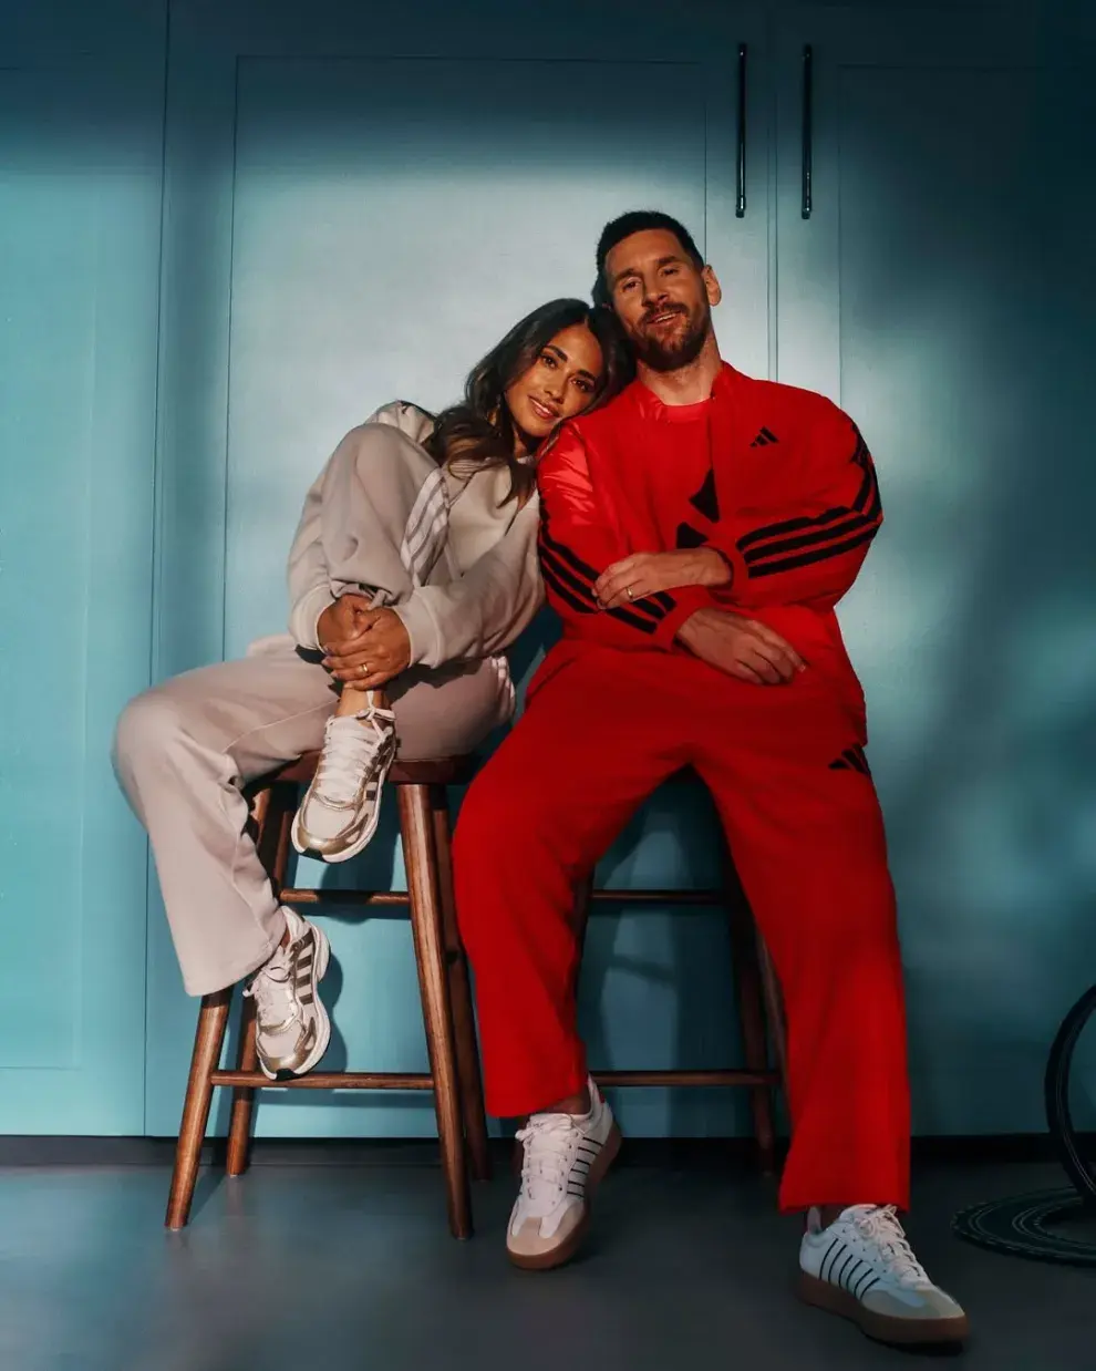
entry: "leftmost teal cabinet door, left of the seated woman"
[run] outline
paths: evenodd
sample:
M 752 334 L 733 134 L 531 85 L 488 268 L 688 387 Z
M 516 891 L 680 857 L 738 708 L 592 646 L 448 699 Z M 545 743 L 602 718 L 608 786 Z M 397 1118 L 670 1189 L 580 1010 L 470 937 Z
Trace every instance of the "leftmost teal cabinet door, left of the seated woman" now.
M 56 3 L 15 33 L 0 21 L 0 1131 L 12 1134 L 144 1127 L 147 850 L 110 744 L 148 684 L 163 23 L 127 10 L 104 4 L 97 27 Z

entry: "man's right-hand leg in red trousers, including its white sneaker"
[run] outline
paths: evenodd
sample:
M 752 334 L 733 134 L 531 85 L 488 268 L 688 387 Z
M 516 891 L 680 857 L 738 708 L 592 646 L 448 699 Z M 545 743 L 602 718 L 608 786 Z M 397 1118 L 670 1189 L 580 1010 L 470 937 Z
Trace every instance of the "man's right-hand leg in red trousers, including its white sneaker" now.
M 810 1213 L 801 1293 L 888 1341 L 962 1339 L 962 1309 L 929 1282 L 896 1217 L 910 1198 L 901 958 L 882 816 L 854 725 L 810 672 L 785 687 L 704 686 L 695 764 L 788 1013 L 781 1208 Z

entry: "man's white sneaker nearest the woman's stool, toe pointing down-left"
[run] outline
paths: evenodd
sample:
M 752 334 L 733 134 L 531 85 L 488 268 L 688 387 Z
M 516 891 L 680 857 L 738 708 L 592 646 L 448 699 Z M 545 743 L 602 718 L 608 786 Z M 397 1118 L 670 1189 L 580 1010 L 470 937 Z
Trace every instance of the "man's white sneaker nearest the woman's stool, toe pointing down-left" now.
M 522 1189 L 514 1201 L 506 1249 L 514 1265 L 547 1271 L 582 1243 L 597 1183 L 621 1150 L 621 1130 L 593 1080 L 586 1115 L 532 1115 L 518 1132 Z

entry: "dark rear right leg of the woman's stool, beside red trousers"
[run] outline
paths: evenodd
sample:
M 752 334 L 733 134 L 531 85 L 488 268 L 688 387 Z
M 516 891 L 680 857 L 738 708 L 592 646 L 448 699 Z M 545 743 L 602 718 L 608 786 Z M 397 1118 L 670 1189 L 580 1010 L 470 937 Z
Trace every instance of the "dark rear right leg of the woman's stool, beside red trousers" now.
M 490 1180 L 488 1120 L 484 1108 L 484 1078 L 475 1039 L 475 1010 L 469 980 L 469 958 L 460 943 L 453 898 L 452 835 L 449 799 L 444 786 L 432 787 L 430 806 L 434 821 L 437 884 L 441 898 L 441 927 L 445 938 L 445 965 L 449 971 L 449 1002 L 456 1034 L 456 1068 L 460 1078 L 460 1112 L 464 1116 L 464 1141 L 469 1146 L 473 1180 Z

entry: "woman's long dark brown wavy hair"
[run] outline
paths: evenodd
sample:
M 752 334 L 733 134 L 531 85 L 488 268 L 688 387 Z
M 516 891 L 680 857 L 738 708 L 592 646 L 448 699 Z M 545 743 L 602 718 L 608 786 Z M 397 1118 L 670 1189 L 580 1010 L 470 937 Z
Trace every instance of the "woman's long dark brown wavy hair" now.
M 611 310 L 593 308 L 585 300 L 549 300 L 514 325 L 507 336 L 469 374 L 464 399 L 443 410 L 426 439 L 426 451 L 440 466 L 470 476 L 484 466 L 506 466 L 510 491 L 506 500 L 525 503 L 536 485 L 536 463 L 514 457 L 515 426 L 506 392 L 537 361 L 556 333 L 584 324 L 601 347 L 601 376 L 588 406 L 612 399 L 634 376 L 632 354 Z

